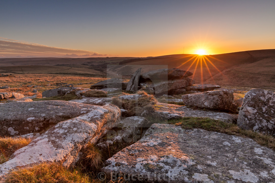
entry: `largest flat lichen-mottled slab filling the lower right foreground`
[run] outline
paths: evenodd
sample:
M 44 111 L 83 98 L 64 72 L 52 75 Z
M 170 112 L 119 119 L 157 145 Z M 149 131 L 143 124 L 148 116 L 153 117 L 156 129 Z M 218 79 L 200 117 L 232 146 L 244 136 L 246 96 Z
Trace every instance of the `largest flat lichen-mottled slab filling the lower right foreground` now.
M 249 138 L 153 124 L 101 171 L 148 182 L 274 182 L 274 155 Z

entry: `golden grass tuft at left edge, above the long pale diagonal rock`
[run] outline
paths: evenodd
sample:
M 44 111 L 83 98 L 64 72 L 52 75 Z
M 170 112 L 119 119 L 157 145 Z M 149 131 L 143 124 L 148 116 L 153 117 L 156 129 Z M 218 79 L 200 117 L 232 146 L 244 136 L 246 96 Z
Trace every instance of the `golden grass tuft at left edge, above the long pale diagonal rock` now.
M 31 139 L 22 137 L 1 137 L 0 138 L 0 164 L 8 161 L 9 157 L 16 150 L 28 145 Z

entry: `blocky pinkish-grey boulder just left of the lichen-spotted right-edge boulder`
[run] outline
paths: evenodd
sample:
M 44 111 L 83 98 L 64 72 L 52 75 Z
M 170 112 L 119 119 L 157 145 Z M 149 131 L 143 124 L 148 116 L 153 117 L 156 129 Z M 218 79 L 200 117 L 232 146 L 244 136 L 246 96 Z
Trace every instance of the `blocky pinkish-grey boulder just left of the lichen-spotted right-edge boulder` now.
M 182 100 L 185 105 L 189 106 L 230 112 L 237 111 L 237 105 L 233 103 L 233 92 L 227 90 L 182 95 Z

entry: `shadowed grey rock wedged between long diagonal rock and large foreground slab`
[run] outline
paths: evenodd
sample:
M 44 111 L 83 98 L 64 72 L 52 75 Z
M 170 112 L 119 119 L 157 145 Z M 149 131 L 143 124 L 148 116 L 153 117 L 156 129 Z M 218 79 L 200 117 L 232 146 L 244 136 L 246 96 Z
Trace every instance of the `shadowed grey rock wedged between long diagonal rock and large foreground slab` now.
M 117 142 L 136 142 L 141 138 L 140 128 L 144 127 L 148 121 L 144 117 L 131 116 L 120 120 L 115 129 L 108 131 L 97 144 L 101 150 L 106 150 L 108 145 Z

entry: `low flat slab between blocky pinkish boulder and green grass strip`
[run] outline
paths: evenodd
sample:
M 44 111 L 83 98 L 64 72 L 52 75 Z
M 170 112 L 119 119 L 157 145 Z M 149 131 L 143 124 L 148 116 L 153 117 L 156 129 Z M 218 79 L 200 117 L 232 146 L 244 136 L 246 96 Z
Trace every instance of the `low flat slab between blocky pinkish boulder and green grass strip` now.
M 237 114 L 229 114 L 226 112 L 202 111 L 187 108 L 186 106 L 156 103 L 155 114 L 167 119 L 177 119 L 182 117 L 208 117 L 211 119 L 221 120 L 227 123 L 234 123 L 238 119 Z

